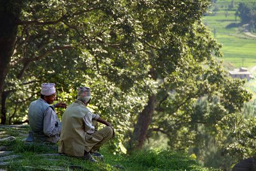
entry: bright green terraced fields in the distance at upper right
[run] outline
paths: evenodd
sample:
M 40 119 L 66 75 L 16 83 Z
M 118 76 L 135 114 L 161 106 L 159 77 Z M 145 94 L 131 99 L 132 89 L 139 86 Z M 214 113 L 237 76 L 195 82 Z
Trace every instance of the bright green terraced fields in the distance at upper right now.
M 239 17 L 235 16 L 238 4 L 249 1 L 253 0 L 217 0 L 211 6 L 212 13 L 203 20 L 223 45 L 223 60 L 229 69 L 256 66 L 256 34 L 246 32 L 246 26 L 241 26 Z

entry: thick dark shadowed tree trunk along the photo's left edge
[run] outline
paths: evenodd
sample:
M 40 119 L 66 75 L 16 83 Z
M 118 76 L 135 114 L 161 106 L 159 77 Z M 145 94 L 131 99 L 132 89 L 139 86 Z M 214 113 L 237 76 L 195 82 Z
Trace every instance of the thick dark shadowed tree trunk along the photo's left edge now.
M 1 0 L 0 2 L 0 98 L 4 93 L 4 81 L 9 70 L 9 65 L 15 40 L 17 37 L 17 20 L 20 17 L 20 1 Z M 1 124 L 6 122 L 6 110 L 1 100 Z

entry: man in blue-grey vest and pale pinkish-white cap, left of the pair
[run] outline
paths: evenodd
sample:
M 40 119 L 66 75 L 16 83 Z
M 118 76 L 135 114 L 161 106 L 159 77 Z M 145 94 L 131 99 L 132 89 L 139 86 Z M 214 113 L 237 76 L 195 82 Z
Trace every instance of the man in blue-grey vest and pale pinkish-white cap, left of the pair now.
M 61 123 L 54 108 L 67 105 L 63 102 L 51 105 L 56 100 L 54 83 L 41 85 L 41 98 L 32 101 L 28 108 L 28 120 L 31 131 L 27 142 L 51 142 L 60 140 Z

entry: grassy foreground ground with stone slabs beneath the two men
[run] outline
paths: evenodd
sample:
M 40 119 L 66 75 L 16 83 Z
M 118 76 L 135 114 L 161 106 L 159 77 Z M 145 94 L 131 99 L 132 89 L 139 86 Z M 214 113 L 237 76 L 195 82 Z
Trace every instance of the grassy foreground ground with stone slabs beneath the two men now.
M 214 170 L 200 166 L 183 152 L 148 150 L 113 154 L 107 146 L 100 151 L 104 161 L 90 163 L 58 154 L 55 144 L 25 143 L 28 131 L 29 126 L 0 125 L 0 170 Z M 2 141 L 6 137 L 12 138 Z

